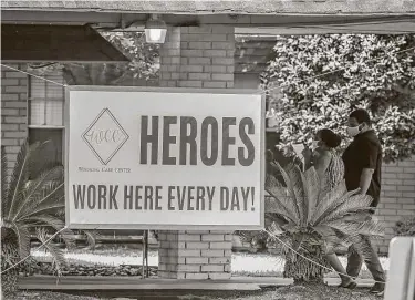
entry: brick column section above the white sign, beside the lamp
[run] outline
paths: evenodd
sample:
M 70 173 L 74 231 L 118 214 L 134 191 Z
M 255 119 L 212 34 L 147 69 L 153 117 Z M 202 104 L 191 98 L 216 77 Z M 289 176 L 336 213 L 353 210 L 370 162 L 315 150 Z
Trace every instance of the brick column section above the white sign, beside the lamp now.
M 160 50 L 160 86 L 234 87 L 234 29 L 172 28 Z

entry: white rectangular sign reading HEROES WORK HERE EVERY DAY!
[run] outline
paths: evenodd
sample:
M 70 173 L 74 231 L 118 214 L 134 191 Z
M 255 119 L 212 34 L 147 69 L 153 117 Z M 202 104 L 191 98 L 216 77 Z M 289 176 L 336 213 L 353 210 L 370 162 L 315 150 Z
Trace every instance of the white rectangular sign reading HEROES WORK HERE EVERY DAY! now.
M 76 86 L 66 99 L 71 228 L 262 228 L 257 91 Z

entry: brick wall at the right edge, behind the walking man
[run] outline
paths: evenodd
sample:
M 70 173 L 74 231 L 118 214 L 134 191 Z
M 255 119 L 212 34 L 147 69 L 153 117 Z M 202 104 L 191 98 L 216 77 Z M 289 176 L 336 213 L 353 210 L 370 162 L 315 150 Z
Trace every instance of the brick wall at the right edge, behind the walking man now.
M 378 252 L 385 255 L 394 237 L 396 221 L 415 217 L 415 156 L 383 166 L 382 198 L 376 216 L 386 227 L 385 239 L 376 241 Z

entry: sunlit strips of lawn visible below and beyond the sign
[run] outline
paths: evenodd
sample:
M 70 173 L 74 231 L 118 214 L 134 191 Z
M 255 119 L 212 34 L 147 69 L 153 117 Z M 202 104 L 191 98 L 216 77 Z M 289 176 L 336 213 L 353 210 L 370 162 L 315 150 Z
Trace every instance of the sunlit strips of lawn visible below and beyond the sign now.
M 50 256 L 44 251 L 32 252 L 37 260 L 49 260 Z M 138 249 L 128 248 L 114 248 L 114 249 L 97 249 L 94 251 L 76 249 L 65 254 L 66 259 L 71 263 L 82 265 L 106 265 L 106 266 L 120 266 L 120 265 L 141 265 L 142 263 L 142 251 Z M 345 266 L 346 258 L 340 258 L 342 263 Z M 387 257 L 382 257 L 381 262 L 385 270 L 388 270 Z M 232 255 L 231 268 L 232 275 L 238 276 L 282 276 L 283 270 L 283 258 L 279 256 L 272 256 L 268 254 L 243 254 L 236 252 Z M 158 254 L 156 250 L 152 250 L 148 254 L 148 265 L 158 265 Z M 328 277 L 336 277 L 334 272 L 328 275 Z M 363 266 L 362 278 L 371 278 L 366 267 Z

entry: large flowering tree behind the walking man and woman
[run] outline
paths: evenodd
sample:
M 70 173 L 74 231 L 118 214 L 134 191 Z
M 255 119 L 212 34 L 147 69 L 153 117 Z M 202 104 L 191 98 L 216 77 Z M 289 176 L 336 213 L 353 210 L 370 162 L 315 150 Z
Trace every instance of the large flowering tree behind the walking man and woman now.
M 370 111 L 385 161 L 415 154 L 415 35 L 278 37 L 262 86 L 274 110 L 278 147 L 310 145 L 328 127 L 347 141 L 356 107 Z

